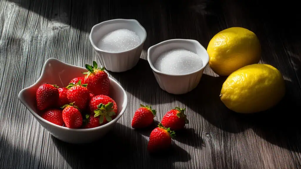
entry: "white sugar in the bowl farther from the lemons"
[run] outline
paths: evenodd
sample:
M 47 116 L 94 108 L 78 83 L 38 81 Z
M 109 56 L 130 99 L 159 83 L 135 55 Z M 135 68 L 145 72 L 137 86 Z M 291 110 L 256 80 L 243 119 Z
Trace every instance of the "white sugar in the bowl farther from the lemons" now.
M 130 30 L 114 30 L 100 39 L 98 48 L 108 52 L 122 52 L 140 44 L 139 36 Z

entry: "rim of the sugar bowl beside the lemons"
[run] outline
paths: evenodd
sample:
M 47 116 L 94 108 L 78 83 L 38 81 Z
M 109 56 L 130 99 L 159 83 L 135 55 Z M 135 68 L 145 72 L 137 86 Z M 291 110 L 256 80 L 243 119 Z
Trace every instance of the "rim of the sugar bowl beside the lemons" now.
M 168 73 L 164 73 L 164 72 L 161 72 L 161 71 L 157 70 L 154 67 L 153 63 L 151 62 L 150 51 L 153 50 L 154 48 L 157 48 L 158 46 L 161 46 L 161 45 L 166 45 L 166 44 L 169 44 L 169 43 L 181 42 L 181 41 L 182 42 L 195 43 L 195 44 L 199 45 L 200 48 L 202 48 L 203 50 L 206 51 L 206 58 L 208 58 L 208 59 L 207 59 L 206 62 L 203 62 L 203 66 L 200 69 L 198 69 L 198 70 L 195 70 L 195 71 L 193 71 L 191 73 L 186 73 L 186 74 L 168 74 Z M 149 47 L 147 49 L 147 61 L 148 61 L 148 64 L 150 65 L 151 69 L 154 72 L 156 72 L 157 74 L 162 74 L 162 75 L 167 75 L 167 76 L 175 76 L 175 77 L 182 77 L 182 76 L 187 76 L 187 75 L 195 74 L 195 73 L 198 73 L 201 70 L 203 70 L 208 65 L 208 63 L 209 63 L 209 54 L 208 54 L 207 50 L 204 48 L 204 46 L 201 45 L 200 42 L 198 42 L 197 40 L 194 40 L 194 39 L 169 39 L 169 40 L 162 41 L 160 43 L 157 43 L 156 45 L 153 45 L 153 46 Z

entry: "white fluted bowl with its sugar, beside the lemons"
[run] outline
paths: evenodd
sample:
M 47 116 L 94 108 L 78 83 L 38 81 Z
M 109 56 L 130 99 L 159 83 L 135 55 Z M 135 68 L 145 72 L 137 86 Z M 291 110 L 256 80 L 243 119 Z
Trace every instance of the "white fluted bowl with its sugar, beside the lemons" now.
M 199 84 L 209 55 L 196 40 L 170 39 L 151 46 L 147 61 L 161 89 L 184 94 Z

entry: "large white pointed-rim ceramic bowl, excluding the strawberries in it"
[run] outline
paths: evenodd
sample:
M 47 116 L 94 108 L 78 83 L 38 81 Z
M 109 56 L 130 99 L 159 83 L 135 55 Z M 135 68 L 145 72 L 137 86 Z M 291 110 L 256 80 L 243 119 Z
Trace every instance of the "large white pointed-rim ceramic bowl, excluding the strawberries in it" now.
M 57 84 L 60 87 L 67 86 L 72 78 L 83 76 L 82 72 L 86 71 L 83 67 L 73 66 L 50 58 L 45 62 L 42 74 L 36 83 L 22 89 L 18 95 L 19 100 L 31 112 L 33 117 L 38 120 L 42 127 L 54 137 L 64 142 L 79 144 L 100 139 L 116 124 L 127 107 L 128 99 L 125 90 L 115 80 L 110 78 L 110 97 L 116 101 L 117 116 L 109 123 L 91 129 L 70 129 L 43 119 L 36 108 L 36 90 L 38 87 L 43 83 Z

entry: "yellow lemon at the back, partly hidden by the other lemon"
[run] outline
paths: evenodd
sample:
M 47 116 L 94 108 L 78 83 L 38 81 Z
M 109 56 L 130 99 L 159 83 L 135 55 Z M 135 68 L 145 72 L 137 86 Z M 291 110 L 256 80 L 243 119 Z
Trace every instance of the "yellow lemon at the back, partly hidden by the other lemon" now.
M 217 33 L 210 40 L 207 52 L 209 67 L 220 76 L 228 76 L 235 70 L 256 64 L 261 58 L 259 39 L 250 30 L 231 27 Z

